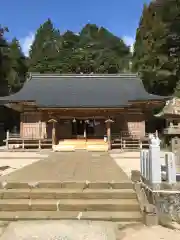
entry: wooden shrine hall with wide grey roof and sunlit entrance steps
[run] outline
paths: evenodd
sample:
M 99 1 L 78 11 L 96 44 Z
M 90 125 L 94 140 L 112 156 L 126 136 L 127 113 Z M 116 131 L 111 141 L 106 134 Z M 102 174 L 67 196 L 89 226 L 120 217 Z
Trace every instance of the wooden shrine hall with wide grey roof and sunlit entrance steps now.
M 20 112 L 22 141 L 108 150 L 114 134 L 145 136 L 147 113 L 167 98 L 147 93 L 135 74 L 31 74 L 19 92 L 0 100 Z

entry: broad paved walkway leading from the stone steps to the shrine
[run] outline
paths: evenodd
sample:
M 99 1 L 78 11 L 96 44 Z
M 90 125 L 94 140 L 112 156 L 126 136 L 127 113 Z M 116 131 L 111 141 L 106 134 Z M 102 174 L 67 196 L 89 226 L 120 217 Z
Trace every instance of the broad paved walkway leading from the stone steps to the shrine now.
M 108 153 L 51 153 L 44 160 L 0 177 L 0 181 L 128 181 Z

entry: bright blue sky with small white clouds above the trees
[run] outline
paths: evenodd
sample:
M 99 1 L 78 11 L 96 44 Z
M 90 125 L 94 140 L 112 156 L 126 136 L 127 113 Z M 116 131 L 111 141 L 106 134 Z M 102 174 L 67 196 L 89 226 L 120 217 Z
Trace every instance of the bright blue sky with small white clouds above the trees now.
M 7 38 L 17 37 L 27 54 L 36 29 L 51 18 L 61 32 L 79 32 L 86 23 L 96 23 L 121 36 L 131 45 L 144 3 L 150 0 L 18 0 L 1 3 L 0 24 Z

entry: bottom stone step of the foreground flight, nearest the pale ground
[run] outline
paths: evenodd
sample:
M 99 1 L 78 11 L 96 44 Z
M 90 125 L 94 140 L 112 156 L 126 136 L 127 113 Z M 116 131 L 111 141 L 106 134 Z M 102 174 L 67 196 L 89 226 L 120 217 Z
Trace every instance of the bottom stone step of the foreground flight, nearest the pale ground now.
M 114 221 L 120 225 L 128 225 L 142 221 L 139 212 L 78 212 L 78 211 L 16 211 L 0 212 L 1 221 L 14 220 L 95 220 Z

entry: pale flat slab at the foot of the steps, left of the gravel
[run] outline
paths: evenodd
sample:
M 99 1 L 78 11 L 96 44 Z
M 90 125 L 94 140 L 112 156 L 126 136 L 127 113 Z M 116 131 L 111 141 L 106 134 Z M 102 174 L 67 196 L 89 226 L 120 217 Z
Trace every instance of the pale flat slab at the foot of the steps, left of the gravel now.
M 116 240 L 113 223 L 90 221 L 13 222 L 0 240 Z

